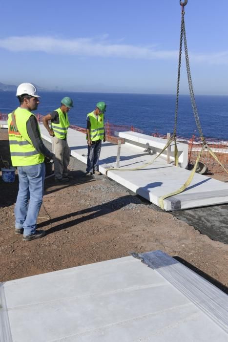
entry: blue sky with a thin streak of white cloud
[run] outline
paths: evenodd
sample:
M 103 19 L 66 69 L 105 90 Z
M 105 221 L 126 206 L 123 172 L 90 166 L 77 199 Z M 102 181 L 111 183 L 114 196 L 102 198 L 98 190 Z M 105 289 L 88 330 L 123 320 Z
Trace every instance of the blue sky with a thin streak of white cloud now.
M 176 93 L 179 0 L 11 0 L 2 1 L 0 11 L 2 83 L 80 92 Z M 195 94 L 228 95 L 227 18 L 227 0 L 187 1 Z M 188 92 L 183 50 L 180 93 Z

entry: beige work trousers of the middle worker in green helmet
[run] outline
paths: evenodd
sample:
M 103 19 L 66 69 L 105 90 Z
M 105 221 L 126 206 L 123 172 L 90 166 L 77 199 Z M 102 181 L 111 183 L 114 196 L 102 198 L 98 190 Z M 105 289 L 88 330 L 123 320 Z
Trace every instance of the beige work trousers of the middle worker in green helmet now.
M 70 148 L 67 144 L 67 141 L 54 136 L 52 140 L 52 151 L 55 154 L 55 179 L 67 177 L 67 166 L 70 162 Z

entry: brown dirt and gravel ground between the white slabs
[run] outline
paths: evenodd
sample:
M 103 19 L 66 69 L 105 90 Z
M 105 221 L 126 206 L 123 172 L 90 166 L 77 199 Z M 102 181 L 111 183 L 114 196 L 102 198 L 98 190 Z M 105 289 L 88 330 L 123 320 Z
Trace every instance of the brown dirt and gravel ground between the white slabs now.
M 6 129 L 0 129 L 0 153 L 8 157 Z M 38 229 L 47 235 L 30 242 L 14 234 L 18 177 L 15 183 L 0 179 L 0 281 L 128 256 L 130 251 L 162 250 L 223 290 L 228 285 L 228 245 L 201 235 L 104 175 L 86 178 L 85 166 L 75 158 L 69 169 L 74 176 L 69 183 L 46 179 Z

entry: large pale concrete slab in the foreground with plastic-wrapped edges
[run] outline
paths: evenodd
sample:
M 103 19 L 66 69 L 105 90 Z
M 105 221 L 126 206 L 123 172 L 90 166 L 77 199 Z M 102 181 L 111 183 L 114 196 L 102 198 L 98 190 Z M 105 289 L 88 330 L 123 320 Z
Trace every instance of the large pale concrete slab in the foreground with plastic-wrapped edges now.
M 161 251 L 135 256 L 1 283 L 0 341 L 228 341 L 224 292 Z

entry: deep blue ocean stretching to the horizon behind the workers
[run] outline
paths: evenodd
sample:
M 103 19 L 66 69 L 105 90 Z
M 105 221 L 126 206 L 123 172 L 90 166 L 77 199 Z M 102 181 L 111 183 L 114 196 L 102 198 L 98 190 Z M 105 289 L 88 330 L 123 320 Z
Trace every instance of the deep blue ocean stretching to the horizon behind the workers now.
M 107 105 L 105 121 L 116 125 L 134 126 L 148 133 L 172 133 L 175 114 L 175 95 L 40 92 L 37 113 L 46 115 L 60 106 L 64 96 L 74 101 L 69 112 L 70 124 L 86 126 L 86 114 L 98 101 Z M 202 131 L 207 138 L 228 140 L 228 96 L 195 96 Z M 18 107 L 14 92 L 0 92 L 0 113 L 9 113 Z M 177 135 L 190 138 L 199 136 L 189 95 L 179 96 Z

